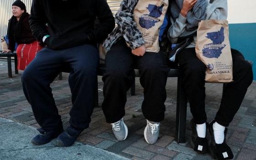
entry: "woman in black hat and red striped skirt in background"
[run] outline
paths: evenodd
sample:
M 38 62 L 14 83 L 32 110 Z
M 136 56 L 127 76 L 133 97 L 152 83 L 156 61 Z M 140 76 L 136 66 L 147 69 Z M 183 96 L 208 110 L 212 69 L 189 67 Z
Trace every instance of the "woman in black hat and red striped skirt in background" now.
M 16 0 L 12 4 L 12 14 L 8 24 L 8 49 L 3 53 L 11 53 L 15 50 L 15 44 L 17 47 L 18 65 L 17 69 L 24 70 L 27 65 L 35 58 L 38 51 L 43 47 L 39 45 L 39 42 L 32 35 L 28 18 L 29 14 L 26 10 L 26 5 L 21 0 Z

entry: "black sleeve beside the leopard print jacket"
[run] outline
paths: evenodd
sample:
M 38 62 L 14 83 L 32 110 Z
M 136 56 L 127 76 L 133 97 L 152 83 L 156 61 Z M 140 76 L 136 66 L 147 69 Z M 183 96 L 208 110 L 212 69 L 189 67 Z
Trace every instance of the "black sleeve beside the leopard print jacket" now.
M 100 24 L 88 34 L 88 37 L 93 43 L 101 43 L 115 28 L 115 19 L 106 0 L 95 0 L 95 3 L 96 16 Z

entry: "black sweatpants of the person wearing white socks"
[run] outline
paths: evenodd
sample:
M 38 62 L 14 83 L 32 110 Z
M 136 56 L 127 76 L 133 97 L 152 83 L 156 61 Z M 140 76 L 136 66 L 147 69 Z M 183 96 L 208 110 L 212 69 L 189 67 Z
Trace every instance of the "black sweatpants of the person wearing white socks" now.
M 253 80 L 252 67 L 237 50 L 231 49 L 233 59 L 233 80 L 224 88 L 219 111 L 215 120 L 228 126 L 238 111 Z M 190 103 L 190 110 L 196 124 L 206 122 L 205 71 L 206 67 L 196 56 L 195 48 L 185 48 L 179 53 L 178 62 L 184 69 L 184 88 Z

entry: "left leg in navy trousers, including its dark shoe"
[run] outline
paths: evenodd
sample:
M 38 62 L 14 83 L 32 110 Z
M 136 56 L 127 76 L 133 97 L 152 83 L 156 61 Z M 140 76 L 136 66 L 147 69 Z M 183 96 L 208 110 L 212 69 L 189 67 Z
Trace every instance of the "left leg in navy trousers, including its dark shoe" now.
M 59 133 L 63 130 L 50 88 L 50 84 L 59 74 L 62 64 L 61 57 L 62 52 L 44 48 L 27 66 L 21 76 L 24 94 L 32 106 L 37 123 L 42 127 L 39 132 L 50 133 L 50 135 L 46 134 L 46 137 L 36 136 L 32 140 L 34 144 L 48 143 L 54 136 L 58 136 L 55 132 L 58 131 Z M 54 132 L 51 133 L 51 131 Z

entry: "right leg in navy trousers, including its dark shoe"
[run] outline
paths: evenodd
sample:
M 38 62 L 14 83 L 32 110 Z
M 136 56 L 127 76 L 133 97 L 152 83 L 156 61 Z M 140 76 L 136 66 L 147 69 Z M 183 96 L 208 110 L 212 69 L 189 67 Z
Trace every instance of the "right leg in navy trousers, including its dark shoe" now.
M 70 67 L 69 86 L 73 107 L 69 112 L 70 126 L 59 135 L 57 145 L 70 146 L 91 122 L 99 53 L 96 46 L 85 44 L 65 49 L 63 54 L 64 64 Z

